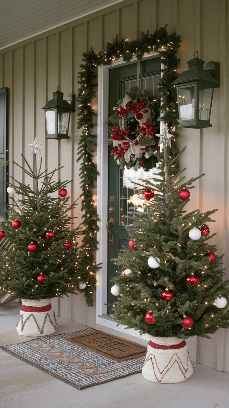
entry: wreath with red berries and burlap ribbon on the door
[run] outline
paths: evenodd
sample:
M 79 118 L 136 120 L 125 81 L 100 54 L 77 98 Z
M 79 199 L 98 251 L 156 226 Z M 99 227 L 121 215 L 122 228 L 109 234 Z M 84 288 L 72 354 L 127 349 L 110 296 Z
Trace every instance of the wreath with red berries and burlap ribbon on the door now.
M 113 143 L 111 155 L 121 170 L 133 167 L 139 169 L 152 167 L 150 157 L 159 150 L 160 130 L 160 100 L 150 98 L 147 91 L 138 86 L 125 91 L 125 97 L 120 99 L 113 108 L 108 124 L 108 144 Z

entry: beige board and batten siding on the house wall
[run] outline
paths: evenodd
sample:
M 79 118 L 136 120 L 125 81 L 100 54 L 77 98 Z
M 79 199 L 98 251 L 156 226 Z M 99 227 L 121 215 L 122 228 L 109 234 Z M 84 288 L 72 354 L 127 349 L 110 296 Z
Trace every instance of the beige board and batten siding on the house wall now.
M 69 140 L 45 140 L 42 106 L 51 99 L 57 86 L 64 93 L 64 99 L 69 93 L 77 94 L 82 53 L 90 47 L 98 51 L 108 41 L 112 42 L 116 34 L 119 38 L 135 40 L 142 31 L 149 29 L 149 33 L 153 33 L 167 24 L 168 32 L 177 31 L 182 39 L 178 52 L 179 73 L 187 70 L 186 62 L 193 58 L 196 50 L 205 62 L 220 62 L 220 88 L 215 89 L 213 95 L 212 128 L 180 128 L 178 144 L 180 149 L 187 146 L 180 157 L 181 168 L 186 167 L 185 176 L 189 179 L 205 173 L 192 190 L 187 211 L 218 208 L 213 215 L 216 222 L 210 224 L 211 233 L 217 233 L 211 242 L 217 244 L 218 254 L 226 254 L 223 262 L 228 279 L 228 17 L 228 0 L 125 0 L 1 50 L 0 88 L 7 86 L 9 91 L 9 174 L 21 182 L 31 182 L 12 161 L 22 165 L 21 153 L 29 159 L 28 144 L 37 137 L 42 143 L 43 169 L 52 170 L 59 163 L 64 165 L 58 171 L 58 178 L 73 180 L 67 189 L 71 202 L 76 200 L 81 193 L 80 164 L 76 163 L 80 137 L 77 109 L 71 114 Z M 96 111 L 96 100 L 93 106 Z M 96 131 L 95 126 L 95 135 Z M 96 189 L 94 193 L 96 198 Z M 78 217 L 75 224 L 80 223 L 80 203 L 72 215 Z M 106 220 L 104 215 L 99 215 L 103 222 L 107 221 L 106 215 Z M 94 298 L 96 300 L 96 294 Z M 96 302 L 93 307 L 87 307 L 81 293 L 54 299 L 53 306 L 56 313 L 66 319 L 98 327 Z M 229 330 L 220 329 L 211 340 L 199 338 L 196 344 L 196 361 L 229 373 Z

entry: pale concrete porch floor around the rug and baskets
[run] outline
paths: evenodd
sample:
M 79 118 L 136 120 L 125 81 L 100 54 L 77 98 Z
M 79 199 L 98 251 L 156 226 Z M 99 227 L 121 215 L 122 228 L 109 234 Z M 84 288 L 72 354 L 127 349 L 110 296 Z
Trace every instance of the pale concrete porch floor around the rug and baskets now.
M 18 335 L 21 304 L 0 308 L 0 345 L 31 339 Z M 87 328 L 57 317 L 56 334 Z M 105 330 L 103 330 L 105 331 Z M 179 384 L 156 384 L 141 373 L 78 390 L 0 350 L 0 408 L 229 408 L 229 374 L 195 364 Z

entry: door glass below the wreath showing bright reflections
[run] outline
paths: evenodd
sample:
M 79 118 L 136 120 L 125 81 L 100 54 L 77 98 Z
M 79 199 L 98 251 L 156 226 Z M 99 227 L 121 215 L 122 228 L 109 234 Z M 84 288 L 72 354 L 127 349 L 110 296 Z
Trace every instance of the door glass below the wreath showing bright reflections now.
M 124 171 L 119 170 L 119 172 L 119 225 L 134 226 L 134 217 L 142 212 L 147 213 L 149 208 L 148 200 L 145 200 L 142 193 L 139 193 L 135 182 L 141 183 L 139 179 L 150 180 L 154 177 L 158 173 L 158 163 L 149 171 L 145 171 L 143 168 L 134 171 L 125 166 Z

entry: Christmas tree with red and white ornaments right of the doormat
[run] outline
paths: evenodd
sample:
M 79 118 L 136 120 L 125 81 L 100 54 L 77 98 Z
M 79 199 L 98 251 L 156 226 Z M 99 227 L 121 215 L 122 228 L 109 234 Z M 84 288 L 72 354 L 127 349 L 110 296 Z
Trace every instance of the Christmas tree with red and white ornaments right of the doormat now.
M 136 183 L 150 207 L 135 217 L 135 228 L 128 228 L 130 249 L 123 247 L 113 259 L 122 268 L 111 279 L 111 293 L 118 296 L 113 316 L 140 334 L 209 338 L 219 327 L 229 326 L 223 255 L 215 255 L 216 245 L 209 243 L 216 234 L 210 234 L 208 224 L 217 210 L 184 210 L 190 196 L 187 187 L 194 188 L 199 177 L 183 181 L 178 158 L 184 149 L 178 152 L 173 141 L 170 148 L 171 136 L 165 127 L 159 173 Z

